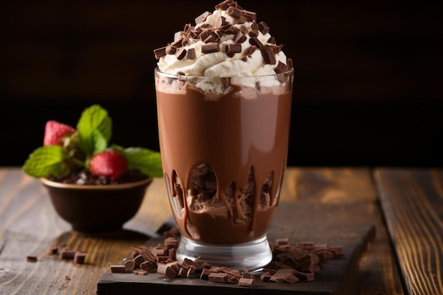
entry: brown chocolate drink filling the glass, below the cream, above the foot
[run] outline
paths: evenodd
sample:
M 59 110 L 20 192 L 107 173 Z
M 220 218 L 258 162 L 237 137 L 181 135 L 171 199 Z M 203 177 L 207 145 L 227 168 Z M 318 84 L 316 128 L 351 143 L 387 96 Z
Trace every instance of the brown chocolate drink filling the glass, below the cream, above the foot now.
M 167 77 L 156 83 L 163 171 L 182 235 L 213 244 L 265 236 L 286 167 L 292 84 L 257 98 L 241 89 L 260 90 L 235 86 L 209 100 L 189 84 L 173 92 L 159 85 Z

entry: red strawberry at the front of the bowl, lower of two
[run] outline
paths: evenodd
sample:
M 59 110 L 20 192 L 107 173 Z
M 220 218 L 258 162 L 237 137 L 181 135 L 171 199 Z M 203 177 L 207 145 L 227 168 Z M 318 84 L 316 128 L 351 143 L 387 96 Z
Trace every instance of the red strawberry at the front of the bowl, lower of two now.
M 117 180 L 127 173 L 127 160 L 117 151 L 102 151 L 89 161 L 91 173 Z

